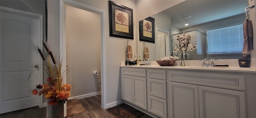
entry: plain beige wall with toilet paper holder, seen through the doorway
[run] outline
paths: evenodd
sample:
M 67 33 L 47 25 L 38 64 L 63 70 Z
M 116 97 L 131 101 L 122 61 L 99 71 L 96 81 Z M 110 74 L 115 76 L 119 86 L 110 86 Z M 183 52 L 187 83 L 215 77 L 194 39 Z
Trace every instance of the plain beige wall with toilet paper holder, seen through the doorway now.
M 100 14 L 66 6 L 66 78 L 73 85 L 70 97 L 101 91 L 100 34 Z

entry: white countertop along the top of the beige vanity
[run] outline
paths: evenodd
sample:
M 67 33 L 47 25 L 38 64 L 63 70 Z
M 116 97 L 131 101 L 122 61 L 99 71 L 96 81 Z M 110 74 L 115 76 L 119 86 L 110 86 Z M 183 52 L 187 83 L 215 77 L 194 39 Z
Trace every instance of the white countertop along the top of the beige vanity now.
M 226 61 L 233 61 L 231 59 L 228 59 Z M 199 63 L 198 63 L 199 62 Z M 174 66 L 160 66 L 156 63 L 156 61 L 151 61 L 151 65 L 140 65 L 141 62 L 138 62 L 138 65 L 130 65 L 125 66 L 125 62 L 121 62 L 120 67 L 134 67 L 134 68 L 148 68 L 148 69 L 176 69 L 176 70 L 197 70 L 197 71 L 225 71 L 225 72 L 242 72 L 242 73 L 256 73 L 255 68 L 255 59 L 251 62 L 251 67 L 239 67 L 236 65 L 229 65 L 229 67 L 201 67 L 200 63 L 201 61 L 190 61 L 187 62 L 188 66 L 179 66 L 179 61 L 176 61 Z M 144 63 L 144 62 L 142 62 Z M 236 59 L 236 63 L 238 63 Z M 186 64 L 186 62 L 185 62 Z M 220 64 L 220 63 L 217 63 Z M 224 63 L 223 63 L 224 64 Z M 226 64 L 226 63 L 225 63 Z

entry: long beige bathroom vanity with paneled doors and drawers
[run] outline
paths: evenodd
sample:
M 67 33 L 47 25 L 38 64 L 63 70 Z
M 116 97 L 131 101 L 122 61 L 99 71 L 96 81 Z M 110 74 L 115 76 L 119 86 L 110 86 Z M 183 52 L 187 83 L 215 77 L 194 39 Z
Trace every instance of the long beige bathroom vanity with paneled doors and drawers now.
M 256 69 L 120 66 L 122 99 L 160 118 L 256 118 Z

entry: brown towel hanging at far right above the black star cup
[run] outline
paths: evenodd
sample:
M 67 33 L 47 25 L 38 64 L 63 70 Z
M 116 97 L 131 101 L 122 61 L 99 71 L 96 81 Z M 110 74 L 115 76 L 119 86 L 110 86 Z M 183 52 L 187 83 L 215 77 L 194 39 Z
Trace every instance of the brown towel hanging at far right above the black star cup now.
M 253 28 L 252 28 L 252 21 L 246 19 L 243 24 L 244 30 L 244 47 L 242 53 L 244 54 L 243 57 L 247 57 L 247 54 L 250 51 L 253 51 Z

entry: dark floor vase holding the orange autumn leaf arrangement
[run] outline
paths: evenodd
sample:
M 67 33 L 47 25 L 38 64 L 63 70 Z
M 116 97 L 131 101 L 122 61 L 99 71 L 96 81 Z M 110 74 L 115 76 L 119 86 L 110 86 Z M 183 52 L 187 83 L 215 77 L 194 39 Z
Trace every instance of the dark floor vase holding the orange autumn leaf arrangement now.
M 65 100 L 60 100 L 58 105 L 52 106 L 52 118 L 64 118 Z

